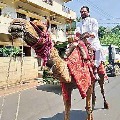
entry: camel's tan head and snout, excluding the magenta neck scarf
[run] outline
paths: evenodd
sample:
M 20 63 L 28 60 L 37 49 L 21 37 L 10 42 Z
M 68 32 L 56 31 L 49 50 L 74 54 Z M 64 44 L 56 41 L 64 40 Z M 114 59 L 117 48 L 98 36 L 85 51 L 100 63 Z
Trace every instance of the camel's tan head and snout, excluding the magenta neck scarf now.
M 46 32 L 49 27 L 49 21 L 46 24 L 41 21 L 34 20 L 29 22 L 27 20 L 17 18 L 14 19 L 9 26 L 9 33 L 14 38 L 22 38 L 27 45 L 33 46 L 41 37 L 42 32 Z

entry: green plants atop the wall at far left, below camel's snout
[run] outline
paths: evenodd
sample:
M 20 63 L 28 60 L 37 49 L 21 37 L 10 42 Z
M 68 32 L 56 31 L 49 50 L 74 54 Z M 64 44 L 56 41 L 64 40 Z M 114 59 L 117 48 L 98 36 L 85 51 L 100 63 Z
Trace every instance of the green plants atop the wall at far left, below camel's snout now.
M 16 57 L 21 53 L 21 50 L 19 47 L 14 47 L 14 46 L 3 47 L 3 48 L 0 48 L 0 53 L 2 53 L 3 56 L 5 57 L 9 57 L 9 56 Z

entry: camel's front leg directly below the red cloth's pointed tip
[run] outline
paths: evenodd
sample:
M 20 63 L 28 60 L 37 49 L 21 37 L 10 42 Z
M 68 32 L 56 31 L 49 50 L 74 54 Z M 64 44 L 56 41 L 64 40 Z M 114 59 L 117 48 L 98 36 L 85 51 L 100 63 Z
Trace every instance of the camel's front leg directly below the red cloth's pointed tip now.
M 92 90 L 93 86 L 89 86 L 89 89 L 87 91 L 87 97 L 86 97 L 86 112 L 87 112 L 87 120 L 93 120 L 93 115 L 92 115 L 92 109 L 91 109 L 91 95 L 92 95 Z

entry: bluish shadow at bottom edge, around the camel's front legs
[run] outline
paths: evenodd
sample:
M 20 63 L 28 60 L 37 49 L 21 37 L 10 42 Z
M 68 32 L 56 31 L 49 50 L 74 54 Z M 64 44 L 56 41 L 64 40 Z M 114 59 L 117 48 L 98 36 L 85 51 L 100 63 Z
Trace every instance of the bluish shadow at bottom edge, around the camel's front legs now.
M 64 113 L 58 113 L 50 118 L 41 118 L 39 120 L 63 120 Z M 82 110 L 71 110 L 70 112 L 70 120 L 86 120 L 86 111 Z

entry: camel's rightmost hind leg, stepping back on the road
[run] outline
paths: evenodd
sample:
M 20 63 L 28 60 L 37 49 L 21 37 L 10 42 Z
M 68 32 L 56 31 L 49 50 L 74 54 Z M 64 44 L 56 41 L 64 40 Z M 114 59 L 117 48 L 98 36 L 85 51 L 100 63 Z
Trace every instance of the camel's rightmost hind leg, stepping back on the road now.
M 100 75 L 100 80 L 98 80 L 98 83 L 100 85 L 101 93 L 102 93 L 102 96 L 103 96 L 103 99 L 104 99 L 104 108 L 109 109 L 109 105 L 108 105 L 108 103 L 105 99 L 105 93 L 104 93 L 104 75 Z

